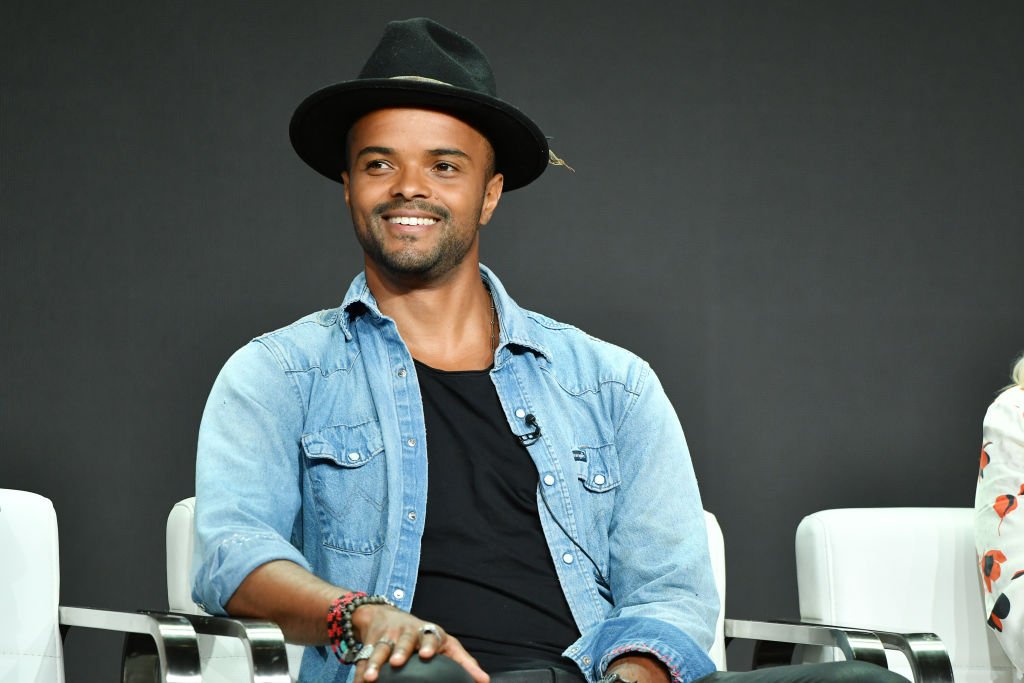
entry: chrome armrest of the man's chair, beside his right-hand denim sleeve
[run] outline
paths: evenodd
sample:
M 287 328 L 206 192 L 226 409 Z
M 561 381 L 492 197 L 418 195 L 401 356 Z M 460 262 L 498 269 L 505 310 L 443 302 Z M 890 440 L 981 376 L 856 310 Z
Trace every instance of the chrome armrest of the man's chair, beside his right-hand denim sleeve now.
M 748 622 L 725 620 L 726 638 L 758 641 L 754 669 L 790 664 L 797 645 L 838 647 L 847 659 L 868 661 L 885 669 L 885 645 L 876 634 L 862 629 L 846 629 L 800 622 Z

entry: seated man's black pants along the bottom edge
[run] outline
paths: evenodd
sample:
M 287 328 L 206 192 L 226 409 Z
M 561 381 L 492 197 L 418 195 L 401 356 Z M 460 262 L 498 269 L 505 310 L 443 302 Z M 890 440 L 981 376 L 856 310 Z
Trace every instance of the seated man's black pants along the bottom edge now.
M 492 683 L 584 683 L 582 674 L 560 669 L 530 669 L 494 674 Z M 423 661 L 413 656 L 404 667 L 384 665 L 379 683 L 472 683 L 469 674 L 452 659 L 437 656 Z M 907 683 L 898 674 L 864 661 L 772 667 L 750 672 L 720 671 L 697 683 Z

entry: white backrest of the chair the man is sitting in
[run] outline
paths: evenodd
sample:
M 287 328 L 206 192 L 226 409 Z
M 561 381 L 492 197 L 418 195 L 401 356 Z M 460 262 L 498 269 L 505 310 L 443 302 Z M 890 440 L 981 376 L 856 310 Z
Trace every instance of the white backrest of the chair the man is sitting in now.
M 173 611 L 189 614 L 205 614 L 191 599 L 191 556 L 195 549 L 196 499 L 186 498 L 171 508 L 167 517 L 167 602 Z M 725 542 L 718 519 L 705 512 L 708 527 L 708 546 L 711 551 L 715 586 L 722 601 L 718 624 L 715 628 L 715 644 L 711 648 L 711 658 L 720 671 L 725 671 Z M 200 642 L 204 647 L 203 640 Z M 288 663 L 292 677 L 297 678 L 302 647 L 288 646 Z M 241 650 L 239 650 L 241 651 Z M 209 656 L 209 653 L 204 655 Z M 231 657 L 238 656 L 232 653 Z M 241 666 L 241 665 L 240 665 Z M 209 676 L 204 673 L 206 678 Z

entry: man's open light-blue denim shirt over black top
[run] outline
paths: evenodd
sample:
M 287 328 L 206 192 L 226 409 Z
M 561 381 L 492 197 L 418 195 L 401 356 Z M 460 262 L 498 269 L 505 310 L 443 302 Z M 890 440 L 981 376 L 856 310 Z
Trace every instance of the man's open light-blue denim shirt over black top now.
M 676 414 L 629 351 L 519 308 L 487 268 L 501 323 L 490 377 L 540 476 L 551 559 L 588 681 L 626 652 L 686 683 L 715 670 L 719 599 Z M 253 569 L 290 560 L 413 604 L 429 490 L 416 369 L 365 274 L 344 303 L 254 339 L 224 366 L 199 436 L 194 591 L 212 613 Z M 326 613 L 327 605 L 325 605 Z M 443 625 L 441 625 L 443 626 Z M 351 672 L 307 647 L 302 680 Z

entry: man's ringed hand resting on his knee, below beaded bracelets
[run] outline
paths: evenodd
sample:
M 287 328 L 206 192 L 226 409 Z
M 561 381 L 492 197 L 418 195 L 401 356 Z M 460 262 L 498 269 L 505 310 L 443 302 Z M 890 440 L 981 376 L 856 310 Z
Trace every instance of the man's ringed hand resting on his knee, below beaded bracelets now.
M 424 628 L 431 626 L 436 631 Z M 490 680 L 458 638 L 400 609 L 387 605 L 364 605 L 352 612 L 352 629 L 359 642 L 374 646 L 373 654 L 356 665 L 352 683 L 373 683 L 385 661 L 395 668 L 401 667 L 413 652 L 419 652 L 421 659 L 443 654 L 461 665 L 475 683 Z

